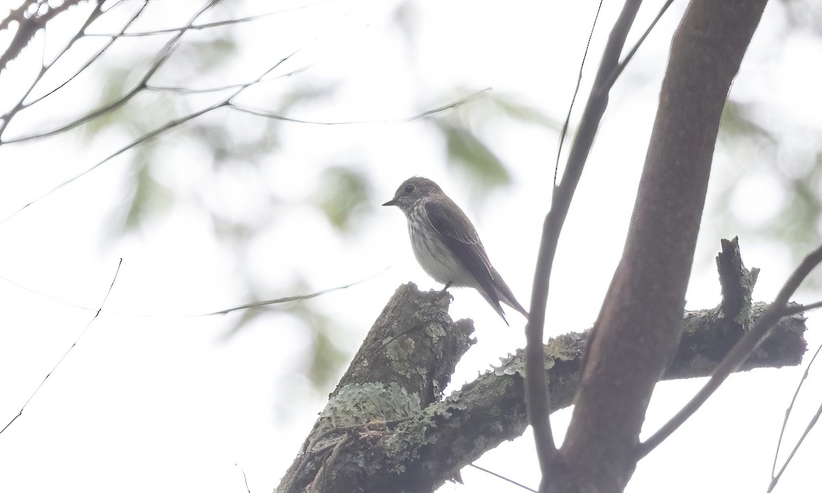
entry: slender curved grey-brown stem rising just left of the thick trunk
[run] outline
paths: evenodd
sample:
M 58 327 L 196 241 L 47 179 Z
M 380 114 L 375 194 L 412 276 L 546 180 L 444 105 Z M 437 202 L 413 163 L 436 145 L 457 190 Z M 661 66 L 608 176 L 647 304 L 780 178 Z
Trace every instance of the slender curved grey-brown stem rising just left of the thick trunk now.
M 610 86 L 605 85 L 607 76 L 617 66 L 625 39 L 634 22 L 636 12 L 640 8 L 641 0 L 627 0 L 622 7 L 619 18 L 614 23 L 611 34 L 608 36 L 602 61 L 597 76 L 593 81 L 593 89 L 580 121 L 580 127 L 571 145 L 568 163 L 562 180 L 554 186 L 551 200 L 551 210 L 543 223 L 543 236 L 539 245 L 537 267 L 533 274 L 533 290 L 531 293 L 530 316 L 525 325 L 527 344 L 525 402 L 528 407 L 529 422 L 533 426 L 534 440 L 537 446 L 539 465 L 543 479 L 551 477 L 552 464 L 556 457 L 556 445 L 551 431 L 548 405 L 548 389 L 545 378 L 545 355 L 543 353 L 543 334 L 545 325 L 545 306 L 548 297 L 548 285 L 551 279 L 551 270 L 556 246 L 562 225 L 565 223 L 570 202 L 574 197 L 577 183 L 593 145 L 593 137 L 597 133 L 599 122 L 605 113 Z

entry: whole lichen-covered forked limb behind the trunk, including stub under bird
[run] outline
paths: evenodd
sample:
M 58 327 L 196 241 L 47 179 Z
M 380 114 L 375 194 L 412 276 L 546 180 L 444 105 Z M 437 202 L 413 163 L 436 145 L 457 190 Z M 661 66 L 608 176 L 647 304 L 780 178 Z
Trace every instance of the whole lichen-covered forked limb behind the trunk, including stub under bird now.
M 723 248 L 719 270 L 736 273 L 725 276 L 723 293 L 748 293 L 750 299 L 750 271 L 735 261 L 736 241 L 723 241 Z M 428 394 L 445 385 L 443 376 L 473 342 L 469 321 L 450 322 L 449 299 L 447 293 L 420 293 L 413 284 L 397 290 L 277 491 L 433 491 L 487 450 L 523 433 L 528 420 L 522 350 L 445 399 L 436 391 Z M 724 354 L 717 348 L 727 351 L 743 334 L 729 324 L 755 320 L 765 308 L 738 303 L 737 312 L 728 312 L 729 304 L 723 299 L 716 308 L 686 312 L 682 343 L 663 378 L 708 376 Z M 797 365 L 806 350 L 804 331 L 804 317 L 783 318 L 744 369 Z M 590 332 L 545 345 L 552 409 L 573 402 Z M 425 395 L 433 399 L 423 405 Z

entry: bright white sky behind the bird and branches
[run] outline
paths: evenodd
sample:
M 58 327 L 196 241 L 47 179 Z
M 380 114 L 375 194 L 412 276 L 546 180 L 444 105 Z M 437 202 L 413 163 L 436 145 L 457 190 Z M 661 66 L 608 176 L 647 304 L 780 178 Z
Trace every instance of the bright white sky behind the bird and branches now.
M 264 3 L 268 2 L 256 2 L 256 10 L 248 7 L 247 13 L 298 5 L 276 2 L 275 7 L 270 2 L 261 7 Z M 577 108 L 584 104 L 619 3 L 603 6 Z M 201 5 L 158 4 L 164 6 L 164 25 L 157 25 L 158 17 L 147 12 L 136 28 L 180 25 Z M 631 41 L 639 37 L 660 4 L 646 2 Z M 254 74 L 260 66 L 246 64 L 255 57 L 267 53 L 279 58 L 316 38 L 294 58 L 293 67 L 310 65 L 307 73 L 312 80 L 338 81 L 341 88 L 333 99 L 294 110 L 294 117 L 322 121 L 407 117 L 448 103 L 443 94 L 455 87 L 466 88 L 455 94 L 459 97 L 488 86 L 500 94 L 514 94 L 557 120 L 564 117 L 596 2 L 420 2 L 413 53 L 396 31 L 391 18 L 394 5 L 328 2 L 244 25 L 238 65 L 226 76 L 237 77 L 243 70 Z M 0 12 L 5 12 L 2 6 L 0 0 Z M 612 91 L 561 238 L 548 301 L 549 334 L 586 329 L 597 316 L 621 254 L 669 39 L 684 6 L 685 2 L 675 3 L 663 17 Z M 818 132 L 822 77 L 818 63 L 809 61 L 822 59 L 822 46 L 810 35 L 785 37 L 781 10 L 777 2 L 766 10 L 733 91 L 741 99 L 764 101 L 776 122 L 801 122 Z M 10 70 L 20 76 L 0 77 L 3 112 L 9 103 L 7 94 L 19 94 L 27 82 L 23 74 L 30 71 L 23 67 L 37 68 L 43 43 L 39 36 L 26 56 L 14 62 L 17 66 Z M 148 40 L 140 43 L 129 49 L 155 46 Z M 60 44 L 54 35 L 48 39 L 47 53 L 54 53 L 56 46 Z M 409 63 L 415 64 L 413 71 Z M 207 86 L 233 81 L 237 79 L 221 81 L 212 76 L 187 82 Z M 61 99 L 62 108 L 67 114 L 81 113 L 96 100 L 92 93 L 97 89 L 94 85 L 71 88 L 73 92 L 67 91 Z M 266 90 L 277 88 L 263 85 L 254 94 Z M 253 94 L 247 101 L 254 103 Z M 235 122 L 227 115 L 219 117 L 229 124 L 255 122 L 239 118 Z M 59 121 L 53 114 L 19 118 L 11 134 L 50 128 Z M 404 178 L 413 175 L 435 179 L 464 205 L 497 269 L 527 304 L 551 189 L 553 132 L 508 119 L 483 129 L 483 137 L 509 167 L 514 182 L 510 188 L 477 197 L 464 176 L 446 164 L 445 150 L 432 138 L 427 122 L 333 127 L 294 123 L 282 128 L 287 145 L 261 163 L 266 179 L 259 186 L 281 194 L 288 214 L 243 261 L 270 273 L 271 279 L 299 274 L 320 288 L 350 283 L 390 267 L 365 283 L 312 301 L 333 314 L 341 327 L 350 328 L 335 339 L 340 347 L 356 350 L 400 283 L 412 280 L 421 288 L 440 288 L 413 259 L 402 214 L 379 208 Z M 72 136 L 0 147 L 0 220 L 126 142 L 125 136 L 114 132 L 109 138 L 110 145 L 92 148 Z M 163 138 L 169 144 L 168 162 L 159 166 L 164 179 L 190 187 L 205 182 L 202 175 L 212 168 L 203 165 L 204 150 L 176 145 L 173 136 Z M 320 213 L 303 202 L 323 165 L 349 162 L 366 167 L 380 200 L 357 234 L 338 236 Z M 0 276 L 61 301 L 0 279 L 2 426 L 81 334 L 95 310 L 77 306 L 99 306 L 118 259 L 123 258 L 104 312 L 23 415 L 0 435 L 0 491 L 245 491 L 235 463 L 246 472 L 253 493 L 271 491 L 333 385 L 315 391 L 293 371 L 302 366 L 298 358 L 310 341 L 289 316 L 258 317 L 230 339 L 224 339 L 224 334 L 240 313 L 180 316 L 247 302 L 236 280 L 240 260 L 219 244 L 196 205 L 178 206 L 113 242 L 105 239 L 110 211 L 122 207 L 122 183 L 131 176 L 126 164 L 122 156 L 113 159 L 0 225 Z M 727 188 L 721 183 L 723 169 L 745 165 L 719 148 L 688 308 L 719 301 L 713 257 L 718 239 L 737 232 L 719 229 L 720 216 L 728 211 L 712 206 L 712 199 Z M 744 183 L 732 201 L 733 212 L 742 220 L 755 223 L 778 210 L 782 191 L 773 183 L 756 173 Z M 238 214 L 246 207 L 270 206 L 259 202 L 259 196 L 244 189 L 240 177 L 230 175 L 213 193 L 220 206 L 241 211 Z M 746 265 L 762 269 L 755 299 L 771 300 L 793 268 L 787 248 L 777 242 L 746 242 L 745 237 L 740 242 Z M 278 283 L 272 280 L 270 285 Z M 512 313 L 509 329 L 477 293 L 452 293 L 451 316 L 473 318 L 478 338 L 453 380 L 459 387 L 496 364 L 498 357 L 524 345 L 524 320 Z M 290 294 L 300 293 L 272 288 L 270 297 Z M 807 290 L 796 297 L 798 302 L 818 299 L 820 293 Z M 806 333 L 811 351 L 822 343 L 817 316 L 810 314 Z M 626 491 L 764 491 L 783 412 L 802 370 L 732 376 L 695 417 L 640 462 Z M 822 399 L 818 374 L 811 371 L 806 394 L 801 395 L 789 426 L 788 445 Z M 646 435 L 703 383 L 695 379 L 658 385 Z M 553 414 L 558 435 L 569 417 L 569 409 Z M 527 431 L 522 439 L 478 460 L 478 465 L 537 487 L 531 442 Z M 778 491 L 818 491 L 815 472 L 820 445 L 820 431 L 812 431 Z M 521 491 L 471 468 L 464 470 L 463 478 L 465 486 L 446 485 L 441 491 Z

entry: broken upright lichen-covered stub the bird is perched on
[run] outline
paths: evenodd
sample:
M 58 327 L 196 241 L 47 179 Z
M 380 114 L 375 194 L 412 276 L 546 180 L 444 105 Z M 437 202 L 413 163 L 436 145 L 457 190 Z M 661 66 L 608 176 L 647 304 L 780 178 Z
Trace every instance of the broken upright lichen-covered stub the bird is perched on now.
M 473 323 L 451 320 L 449 303 L 450 294 L 420 293 L 413 283 L 397 289 L 277 491 L 381 491 L 386 472 L 395 477 L 415 463 L 424 431 L 407 449 L 391 448 L 391 463 L 381 458 L 384 435 L 441 400 L 474 342 Z

